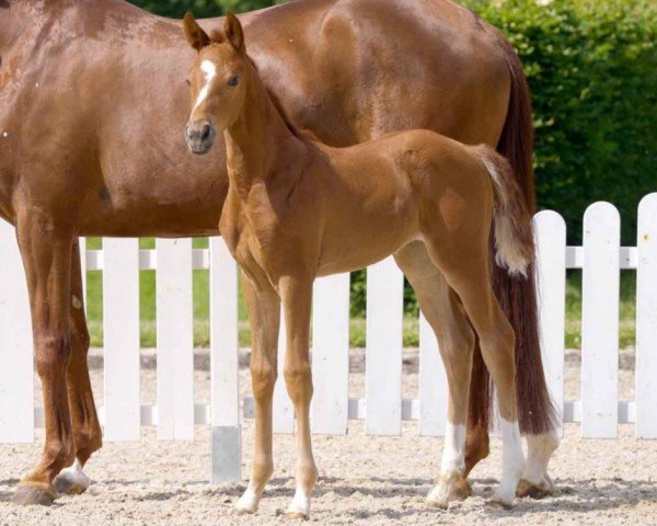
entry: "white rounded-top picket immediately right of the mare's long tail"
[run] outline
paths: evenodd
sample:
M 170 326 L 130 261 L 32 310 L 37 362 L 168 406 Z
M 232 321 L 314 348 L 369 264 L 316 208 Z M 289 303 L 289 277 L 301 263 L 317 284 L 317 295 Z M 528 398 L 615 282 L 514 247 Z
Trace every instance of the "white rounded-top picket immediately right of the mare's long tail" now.
M 534 216 L 537 288 L 545 380 L 558 413 L 564 410 L 564 334 L 566 310 L 566 222 L 552 210 Z M 563 424 L 560 424 L 563 435 Z

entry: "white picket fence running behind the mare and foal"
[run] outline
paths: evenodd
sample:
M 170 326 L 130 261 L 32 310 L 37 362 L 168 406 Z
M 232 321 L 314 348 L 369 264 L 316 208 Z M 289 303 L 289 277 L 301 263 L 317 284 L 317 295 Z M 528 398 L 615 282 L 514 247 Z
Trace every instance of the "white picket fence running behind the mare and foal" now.
M 566 226 L 554 211 L 534 217 L 542 351 L 548 382 L 564 422 L 579 422 L 583 437 L 615 437 L 634 423 L 641 438 L 657 438 L 657 193 L 638 207 L 636 247 L 620 247 L 620 216 L 608 203 L 584 217 L 584 245 L 566 247 Z M 84 249 L 84 241 L 81 240 Z M 237 267 L 220 238 L 193 250 L 189 239 L 157 240 L 139 250 L 136 239 L 104 239 L 84 250 L 84 271 L 103 271 L 104 407 L 106 441 L 138 441 L 140 427 L 158 426 L 161 439 L 192 439 L 195 424 L 211 426 L 211 480 L 240 478 Z M 30 315 L 13 228 L 0 221 L 0 442 L 34 439 L 43 426 L 33 405 Z M 211 399 L 194 403 L 192 271 L 209 268 Z M 566 268 L 583 268 L 581 400 L 564 400 Z M 139 398 L 139 271 L 157 271 L 157 405 Z M 636 399 L 619 400 L 619 278 L 636 270 Z M 348 397 L 349 277 L 318 279 L 313 304 L 313 432 L 345 434 L 365 419 L 372 435 L 396 435 L 404 420 L 419 434 L 441 435 L 447 411 L 445 370 L 434 334 L 420 319 L 419 392 L 402 399 L 403 275 L 392 259 L 368 268 L 366 397 Z M 284 333 L 280 355 L 285 353 Z M 281 365 L 284 359 L 279 359 Z M 283 375 L 279 376 L 281 378 Z M 253 401 L 243 403 L 253 415 Z M 275 391 L 275 431 L 293 431 L 284 382 Z

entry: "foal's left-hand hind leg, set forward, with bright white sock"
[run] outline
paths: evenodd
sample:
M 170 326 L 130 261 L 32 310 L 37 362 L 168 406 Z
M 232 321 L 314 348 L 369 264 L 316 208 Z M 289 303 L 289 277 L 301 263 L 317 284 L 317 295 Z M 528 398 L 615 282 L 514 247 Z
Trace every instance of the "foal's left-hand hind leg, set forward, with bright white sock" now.
M 465 467 L 465 424 L 474 334 L 458 298 L 440 271 L 431 263 L 422 242 L 413 242 L 395 254 L 411 282 L 423 315 L 434 329 L 445 363 L 449 387 L 448 422 L 440 474 L 427 495 L 430 505 L 447 508 L 462 499 L 457 483 Z

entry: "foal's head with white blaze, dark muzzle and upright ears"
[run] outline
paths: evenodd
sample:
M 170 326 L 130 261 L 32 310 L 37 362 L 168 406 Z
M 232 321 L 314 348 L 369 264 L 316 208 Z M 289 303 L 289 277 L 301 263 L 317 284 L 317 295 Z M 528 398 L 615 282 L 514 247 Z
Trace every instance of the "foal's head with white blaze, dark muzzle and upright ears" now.
M 217 134 L 240 115 L 245 84 L 253 66 L 246 56 L 244 33 L 235 15 L 228 13 L 223 34 L 209 36 L 189 13 L 184 20 L 185 37 L 198 55 L 189 69 L 192 115 L 185 128 L 194 153 L 207 153 Z

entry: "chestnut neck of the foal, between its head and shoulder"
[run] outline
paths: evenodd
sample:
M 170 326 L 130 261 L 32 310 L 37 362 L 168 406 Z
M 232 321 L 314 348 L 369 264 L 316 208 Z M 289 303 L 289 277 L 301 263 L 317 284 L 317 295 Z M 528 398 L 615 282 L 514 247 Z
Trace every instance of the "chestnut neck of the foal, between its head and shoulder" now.
M 226 130 L 230 184 L 242 198 L 303 157 L 306 144 L 288 128 L 255 68 L 250 69 L 242 112 Z M 268 184 L 267 184 L 268 186 Z

